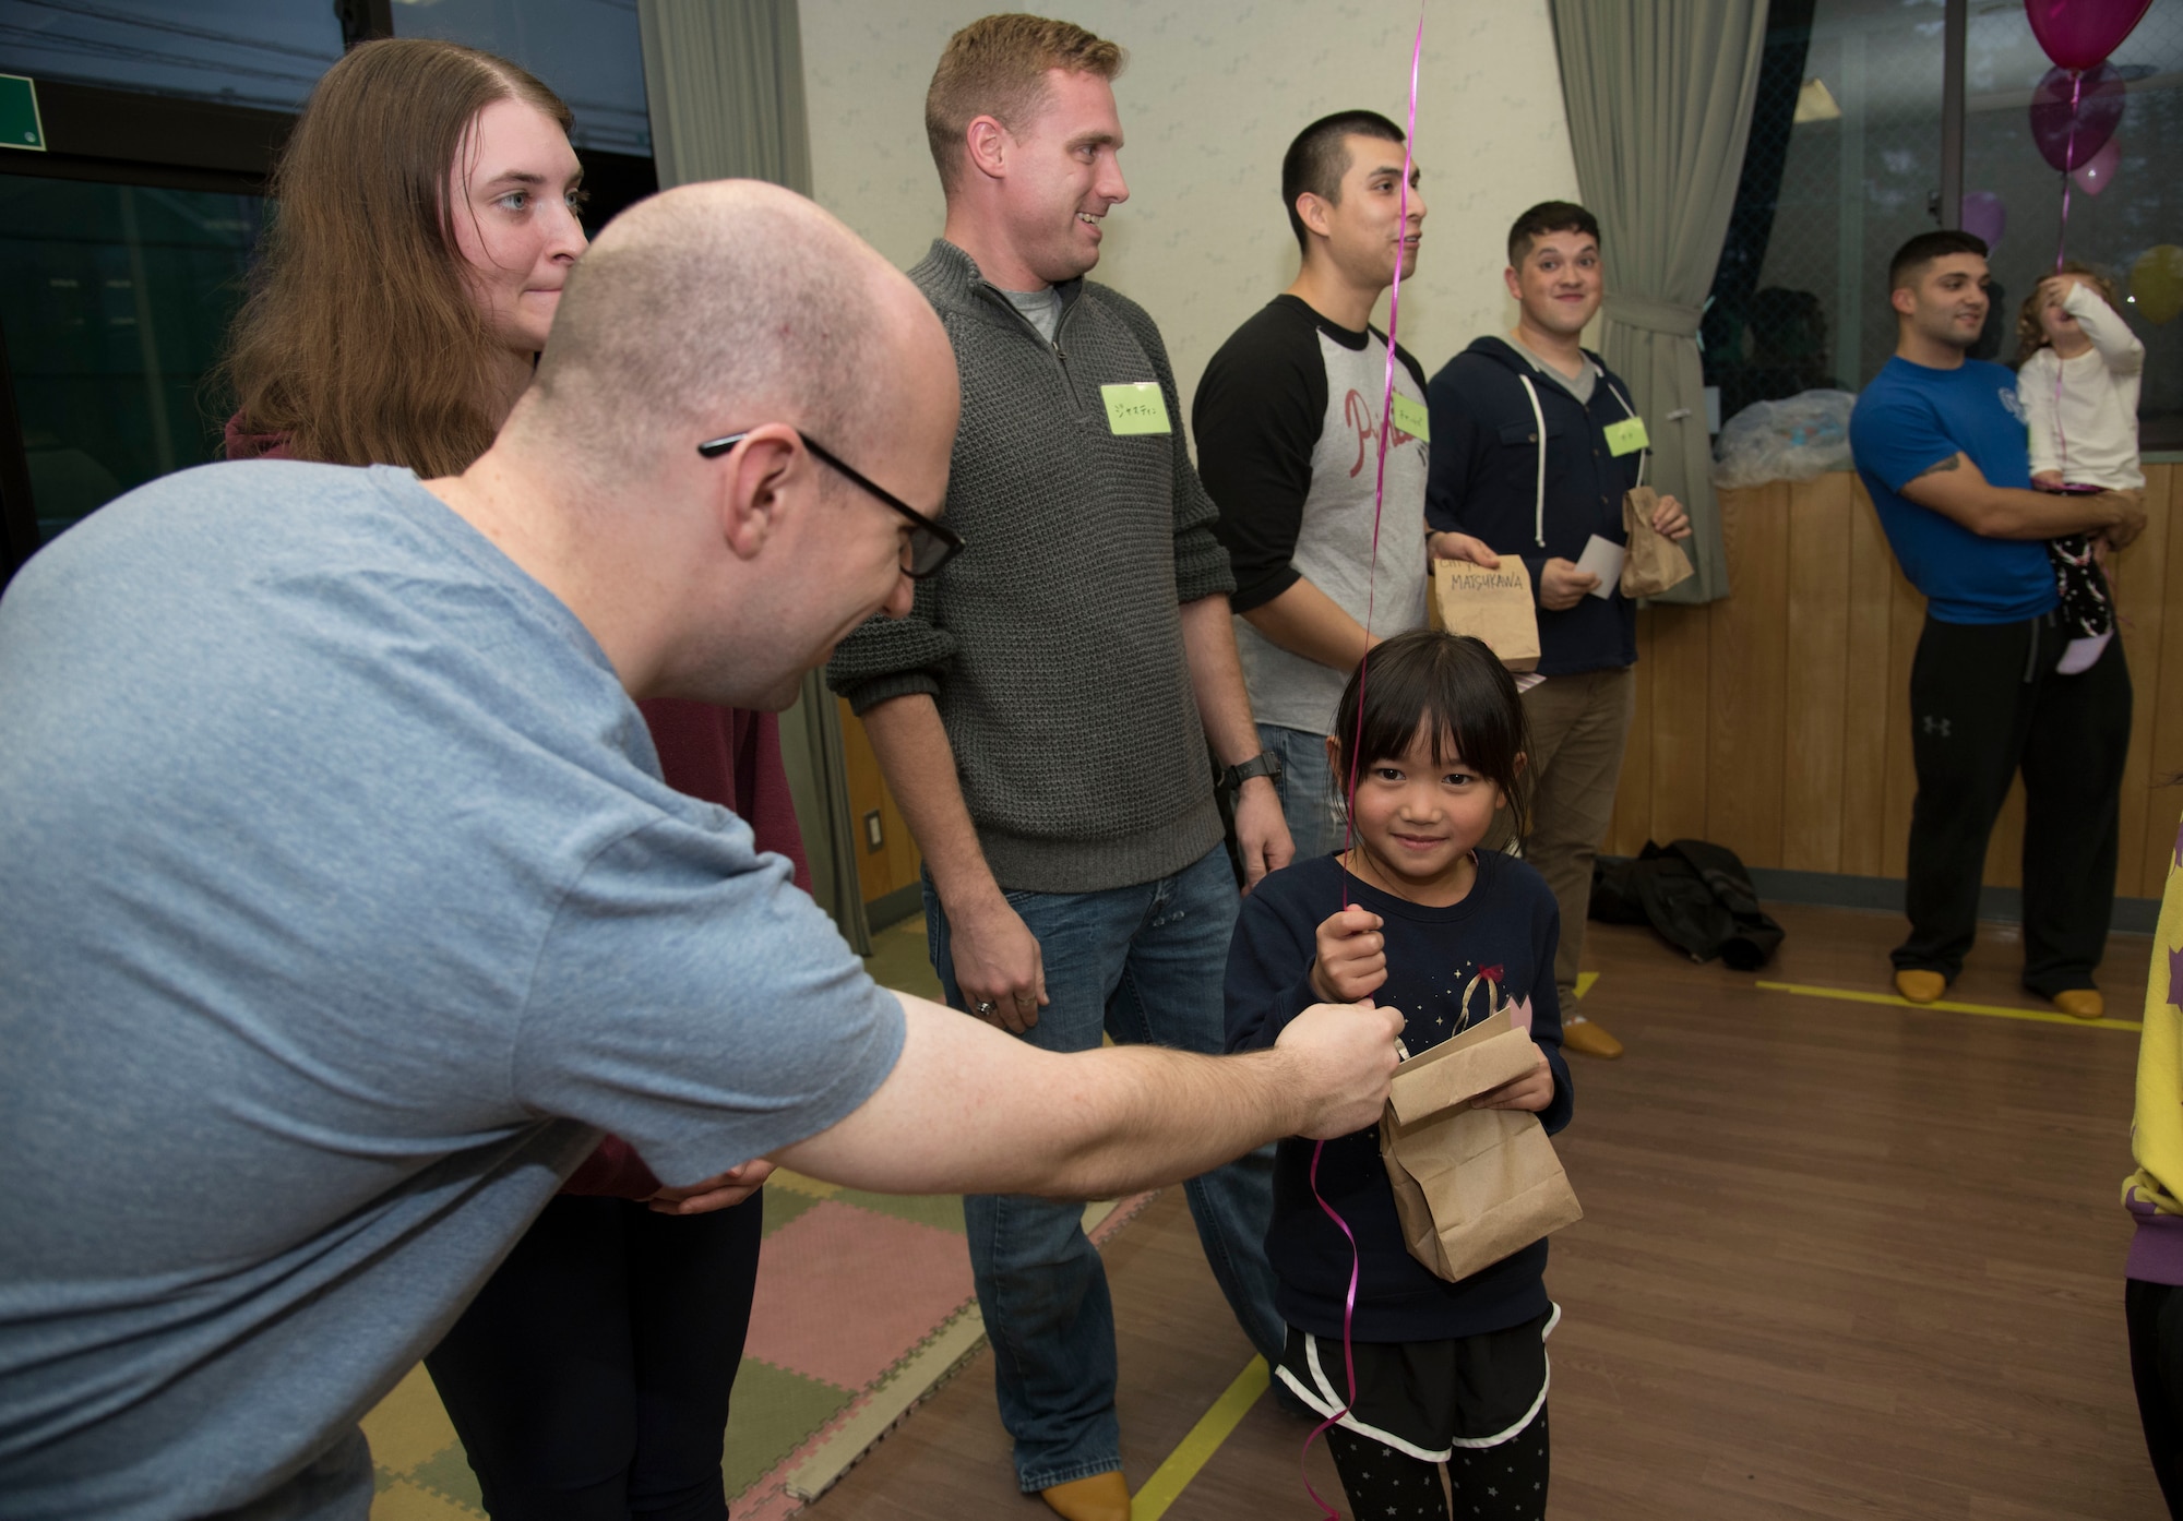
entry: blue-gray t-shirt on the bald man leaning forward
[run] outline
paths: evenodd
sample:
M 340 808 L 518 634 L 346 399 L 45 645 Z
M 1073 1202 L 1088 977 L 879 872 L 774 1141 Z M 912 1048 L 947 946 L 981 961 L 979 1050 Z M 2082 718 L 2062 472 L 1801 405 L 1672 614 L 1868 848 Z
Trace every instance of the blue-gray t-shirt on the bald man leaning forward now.
M 788 862 L 408 471 L 103 508 L 0 600 L 0 714 L 9 1517 L 362 1519 L 356 1418 L 600 1130 L 685 1185 L 899 1056 Z

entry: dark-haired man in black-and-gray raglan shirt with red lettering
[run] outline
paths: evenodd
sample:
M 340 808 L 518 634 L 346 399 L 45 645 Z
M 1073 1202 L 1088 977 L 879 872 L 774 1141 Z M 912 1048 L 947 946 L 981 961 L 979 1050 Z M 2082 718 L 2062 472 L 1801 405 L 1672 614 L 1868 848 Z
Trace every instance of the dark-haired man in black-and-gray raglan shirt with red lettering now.
M 1327 727 L 1371 644 L 1425 622 L 1425 371 L 1395 345 L 1380 552 L 1373 567 L 1386 334 L 1371 310 L 1408 277 L 1425 223 L 1404 137 L 1377 111 L 1336 111 L 1297 133 L 1281 203 L 1303 264 L 1295 284 L 1220 345 L 1192 404 L 1198 476 L 1236 572 L 1236 646 L 1297 858 L 1343 847 Z M 1447 535 L 1484 565 L 1484 546 Z M 1364 633 L 1367 611 L 1371 637 Z

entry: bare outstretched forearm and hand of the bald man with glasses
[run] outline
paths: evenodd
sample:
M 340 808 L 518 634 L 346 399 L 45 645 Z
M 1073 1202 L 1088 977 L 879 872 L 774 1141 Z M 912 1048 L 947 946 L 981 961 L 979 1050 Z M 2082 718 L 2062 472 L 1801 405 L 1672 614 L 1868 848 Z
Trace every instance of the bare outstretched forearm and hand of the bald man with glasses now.
M 1371 1126 L 1401 1032 L 1399 1010 L 1321 1004 L 1266 1052 L 1116 1045 L 1061 1056 L 897 997 L 906 1032 L 886 1082 L 775 1161 L 882 1194 L 1131 1194 L 1275 1137 Z

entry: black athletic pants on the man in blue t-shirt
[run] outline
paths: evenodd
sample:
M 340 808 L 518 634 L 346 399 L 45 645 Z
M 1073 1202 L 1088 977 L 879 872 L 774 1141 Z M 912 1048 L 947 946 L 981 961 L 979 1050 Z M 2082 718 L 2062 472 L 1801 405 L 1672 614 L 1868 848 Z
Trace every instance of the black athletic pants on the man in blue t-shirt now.
M 2115 906 L 2131 672 L 2122 639 L 2091 670 L 2056 674 L 2069 642 L 2052 618 L 1925 620 L 1910 668 L 1910 938 L 1897 969 L 1954 978 L 1978 927 L 1987 840 L 2024 770 L 2024 986 L 2089 989 Z

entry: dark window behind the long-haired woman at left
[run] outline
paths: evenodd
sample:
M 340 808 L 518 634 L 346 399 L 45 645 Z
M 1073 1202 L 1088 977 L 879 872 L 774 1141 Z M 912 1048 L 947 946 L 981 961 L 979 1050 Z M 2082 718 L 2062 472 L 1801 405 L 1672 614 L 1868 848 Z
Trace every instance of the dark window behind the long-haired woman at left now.
M 587 220 L 651 194 L 635 0 L 0 0 L 46 151 L 0 151 L 0 578 L 116 495 L 220 458 L 214 371 L 266 177 L 367 37 L 509 57 L 574 111 Z

